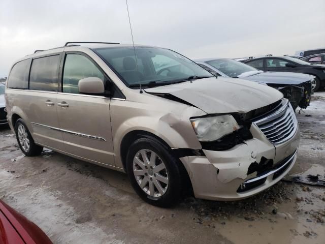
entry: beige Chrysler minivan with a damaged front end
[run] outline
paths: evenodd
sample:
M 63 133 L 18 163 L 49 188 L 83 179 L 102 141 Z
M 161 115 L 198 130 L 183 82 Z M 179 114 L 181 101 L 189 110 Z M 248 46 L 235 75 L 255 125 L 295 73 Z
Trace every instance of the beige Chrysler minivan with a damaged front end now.
M 278 90 L 214 77 L 165 48 L 71 44 L 10 71 L 7 117 L 26 156 L 47 147 L 125 171 L 142 199 L 163 207 L 188 189 L 247 198 L 295 164 L 299 126 Z

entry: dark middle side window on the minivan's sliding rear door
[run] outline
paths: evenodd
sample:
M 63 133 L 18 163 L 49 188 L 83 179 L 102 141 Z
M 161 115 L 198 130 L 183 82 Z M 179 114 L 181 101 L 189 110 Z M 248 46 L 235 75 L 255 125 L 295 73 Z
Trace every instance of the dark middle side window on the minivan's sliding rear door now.
M 29 89 L 57 92 L 59 55 L 32 60 Z

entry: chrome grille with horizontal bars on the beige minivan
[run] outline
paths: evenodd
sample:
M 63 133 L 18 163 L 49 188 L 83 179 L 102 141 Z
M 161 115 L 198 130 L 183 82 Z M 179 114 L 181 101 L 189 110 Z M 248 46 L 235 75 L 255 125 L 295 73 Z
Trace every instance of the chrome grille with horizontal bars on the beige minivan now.
M 283 99 L 271 114 L 258 118 L 253 123 L 274 144 L 289 140 L 298 128 L 295 112 L 287 99 Z

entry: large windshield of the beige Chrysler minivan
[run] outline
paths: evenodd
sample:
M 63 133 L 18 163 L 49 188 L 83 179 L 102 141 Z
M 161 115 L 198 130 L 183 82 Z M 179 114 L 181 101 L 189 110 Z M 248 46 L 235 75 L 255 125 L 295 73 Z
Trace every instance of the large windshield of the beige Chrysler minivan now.
M 166 85 L 188 79 L 213 77 L 188 58 L 156 47 L 111 47 L 93 49 L 129 87 Z M 135 58 L 135 52 L 137 59 Z

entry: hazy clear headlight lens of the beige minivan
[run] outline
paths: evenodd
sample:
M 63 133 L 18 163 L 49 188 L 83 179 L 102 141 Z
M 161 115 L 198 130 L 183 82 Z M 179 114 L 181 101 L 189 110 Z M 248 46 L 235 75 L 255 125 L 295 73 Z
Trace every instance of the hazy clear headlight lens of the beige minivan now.
M 190 120 L 199 141 L 215 141 L 241 128 L 230 114 Z

